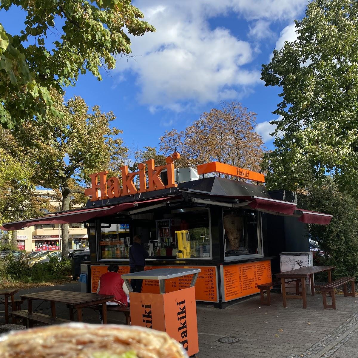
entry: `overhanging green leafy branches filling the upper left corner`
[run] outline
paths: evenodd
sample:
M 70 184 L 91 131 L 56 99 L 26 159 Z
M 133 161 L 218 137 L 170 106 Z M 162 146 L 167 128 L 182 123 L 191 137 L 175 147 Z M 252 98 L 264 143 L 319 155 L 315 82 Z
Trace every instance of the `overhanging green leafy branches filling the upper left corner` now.
M 50 88 L 61 92 L 87 71 L 100 80 L 101 68 L 112 69 L 116 55 L 131 53 L 127 33 L 155 31 L 131 0 L 3 0 L 0 11 L 11 6 L 27 16 L 20 34 L 0 23 L 0 123 L 10 129 L 49 114 L 63 118 Z M 58 34 L 52 44 L 50 32 Z

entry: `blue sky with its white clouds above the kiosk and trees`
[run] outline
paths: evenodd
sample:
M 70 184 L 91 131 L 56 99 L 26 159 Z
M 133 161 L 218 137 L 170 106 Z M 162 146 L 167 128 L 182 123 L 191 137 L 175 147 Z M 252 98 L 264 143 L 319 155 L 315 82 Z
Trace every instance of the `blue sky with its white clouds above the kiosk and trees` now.
M 157 31 L 132 38 L 132 58 L 118 58 L 98 82 L 80 76 L 66 97 L 113 111 L 127 146 L 158 146 L 166 130 L 183 130 L 222 101 L 240 101 L 257 113 L 257 131 L 272 149 L 269 121 L 279 88 L 264 87 L 261 64 L 272 50 L 295 39 L 294 19 L 307 0 L 136 0 Z M 10 34 L 24 28 L 25 13 L 0 11 Z M 61 25 L 60 25 L 61 26 Z M 61 27 L 60 27 L 61 28 Z

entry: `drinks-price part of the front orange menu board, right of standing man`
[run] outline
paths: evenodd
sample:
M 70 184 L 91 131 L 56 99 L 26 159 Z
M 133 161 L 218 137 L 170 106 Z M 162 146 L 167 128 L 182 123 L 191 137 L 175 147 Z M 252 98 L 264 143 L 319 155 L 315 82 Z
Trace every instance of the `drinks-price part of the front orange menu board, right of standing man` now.
M 218 302 L 218 281 L 216 266 L 146 266 L 151 269 L 200 269 L 195 284 L 195 298 L 197 301 Z M 176 277 L 165 281 L 165 292 L 173 292 L 190 287 L 193 275 Z M 158 280 L 144 280 L 142 286 L 144 293 L 159 293 Z

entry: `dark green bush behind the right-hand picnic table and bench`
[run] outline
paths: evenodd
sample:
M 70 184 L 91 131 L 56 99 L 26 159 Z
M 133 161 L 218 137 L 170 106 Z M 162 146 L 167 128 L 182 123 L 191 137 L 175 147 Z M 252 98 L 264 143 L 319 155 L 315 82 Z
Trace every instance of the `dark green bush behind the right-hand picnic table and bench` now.
M 316 182 L 299 195 L 300 207 L 332 214 L 329 225 L 309 224 L 310 239 L 318 242 L 323 257 L 319 265 L 336 266 L 333 275 L 358 275 L 358 201 L 341 193 L 333 180 Z

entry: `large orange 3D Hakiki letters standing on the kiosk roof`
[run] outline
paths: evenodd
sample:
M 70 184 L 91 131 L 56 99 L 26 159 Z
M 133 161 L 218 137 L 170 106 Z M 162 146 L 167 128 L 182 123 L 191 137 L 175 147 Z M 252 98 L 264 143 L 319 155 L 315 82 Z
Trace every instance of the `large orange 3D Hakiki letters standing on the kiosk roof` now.
M 124 195 L 131 195 L 137 193 L 151 192 L 152 190 L 175 188 L 174 182 L 174 159 L 179 159 L 179 153 L 173 153 L 166 158 L 166 165 L 154 166 L 154 159 L 149 159 L 144 163 L 138 164 L 138 171 L 128 173 L 128 166 L 122 166 L 122 177 L 117 178 L 112 176 L 107 179 L 108 171 L 101 171 L 100 173 L 90 174 L 92 187 L 84 190 L 84 194 L 91 196 L 91 201 L 101 199 L 119 198 Z M 147 170 L 146 170 L 147 166 Z M 164 185 L 160 178 L 160 173 L 164 169 L 168 173 L 168 184 Z M 139 176 L 139 188 L 133 182 L 135 176 Z M 120 180 L 122 183 L 120 183 Z M 148 183 L 148 185 L 147 185 Z

